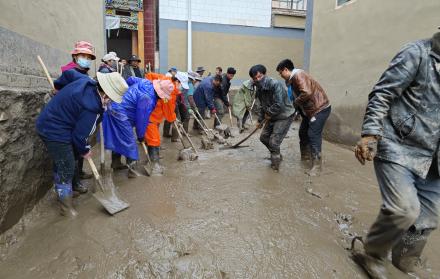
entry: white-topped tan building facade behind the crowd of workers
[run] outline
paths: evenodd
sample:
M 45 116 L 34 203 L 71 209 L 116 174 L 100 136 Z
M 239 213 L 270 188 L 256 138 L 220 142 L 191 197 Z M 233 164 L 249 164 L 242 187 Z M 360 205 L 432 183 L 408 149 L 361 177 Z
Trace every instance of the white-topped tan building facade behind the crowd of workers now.
M 254 64 L 270 75 L 283 58 L 302 66 L 306 5 L 298 2 L 306 1 L 161 0 L 159 71 L 233 66 L 238 84 Z

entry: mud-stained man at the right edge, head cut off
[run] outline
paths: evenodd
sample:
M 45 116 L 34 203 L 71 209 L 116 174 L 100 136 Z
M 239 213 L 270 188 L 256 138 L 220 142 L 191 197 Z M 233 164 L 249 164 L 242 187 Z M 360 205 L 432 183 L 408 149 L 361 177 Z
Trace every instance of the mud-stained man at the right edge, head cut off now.
M 438 227 L 439 73 L 436 33 L 405 45 L 369 95 L 355 154 L 362 164 L 374 158 L 383 203 L 364 239 L 365 253 L 354 256 L 372 277 L 385 278 L 390 250 L 394 266 L 416 271 L 428 236 Z

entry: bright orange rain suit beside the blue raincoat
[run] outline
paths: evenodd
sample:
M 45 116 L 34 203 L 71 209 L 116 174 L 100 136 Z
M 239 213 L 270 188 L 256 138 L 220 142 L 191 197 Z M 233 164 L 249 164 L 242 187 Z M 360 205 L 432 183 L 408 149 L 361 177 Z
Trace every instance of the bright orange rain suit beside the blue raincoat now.
M 150 81 L 157 79 L 171 80 L 171 78 L 157 73 L 147 73 L 145 74 L 145 78 Z M 181 94 L 179 89 L 174 86 L 174 90 L 171 92 L 170 100 L 164 101 L 163 99 L 158 98 L 156 107 L 150 115 L 150 121 L 144 136 L 148 146 L 160 146 L 159 125 L 164 119 L 166 119 L 168 122 L 174 122 L 176 120 L 176 99 L 179 94 Z

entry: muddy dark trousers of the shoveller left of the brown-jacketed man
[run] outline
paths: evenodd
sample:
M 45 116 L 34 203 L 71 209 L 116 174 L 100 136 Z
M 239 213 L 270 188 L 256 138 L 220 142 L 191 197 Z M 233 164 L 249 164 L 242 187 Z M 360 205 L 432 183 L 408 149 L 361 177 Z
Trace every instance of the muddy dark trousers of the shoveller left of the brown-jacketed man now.
M 260 141 L 273 155 L 280 154 L 280 146 L 292 124 L 293 115 L 282 120 L 269 121 L 263 128 Z

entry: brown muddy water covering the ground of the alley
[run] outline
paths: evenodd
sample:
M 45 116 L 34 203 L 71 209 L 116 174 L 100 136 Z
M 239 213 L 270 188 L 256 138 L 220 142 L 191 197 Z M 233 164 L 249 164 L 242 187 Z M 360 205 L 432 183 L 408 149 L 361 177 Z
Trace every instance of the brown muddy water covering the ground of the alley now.
M 371 166 L 351 151 L 325 144 L 324 173 L 310 179 L 293 129 L 278 174 L 257 137 L 194 162 L 176 160 L 180 144 L 165 147 L 164 177 L 115 173 L 131 207 L 113 217 L 86 195 L 67 220 L 50 194 L 22 234 L 1 238 L 0 278 L 366 278 L 346 248 L 380 200 Z M 435 232 L 425 253 L 432 278 L 439 245 Z

